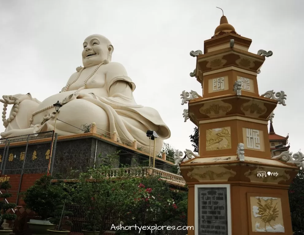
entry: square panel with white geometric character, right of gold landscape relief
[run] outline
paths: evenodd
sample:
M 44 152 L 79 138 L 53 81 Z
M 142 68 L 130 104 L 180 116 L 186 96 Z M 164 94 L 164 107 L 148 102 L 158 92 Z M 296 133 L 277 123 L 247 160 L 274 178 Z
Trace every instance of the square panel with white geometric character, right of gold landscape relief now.
M 245 149 L 265 151 L 264 133 L 261 130 L 243 128 L 243 141 Z

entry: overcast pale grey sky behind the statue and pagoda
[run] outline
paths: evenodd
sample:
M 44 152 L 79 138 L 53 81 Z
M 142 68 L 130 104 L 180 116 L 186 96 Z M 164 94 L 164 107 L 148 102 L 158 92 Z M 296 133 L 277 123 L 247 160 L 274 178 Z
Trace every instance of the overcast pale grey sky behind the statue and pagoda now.
M 30 92 L 40 101 L 58 93 L 82 65 L 83 40 L 102 34 L 114 45 L 112 61 L 136 84 L 138 104 L 159 111 L 171 129 L 165 142 L 193 150 L 194 124 L 183 120 L 180 93 L 202 94 L 189 73 L 224 10 L 236 32 L 252 39 L 249 51 L 272 50 L 258 75 L 259 93 L 285 91 L 275 109 L 275 132 L 289 133 L 290 150 L 303 140 L 303 5 L 298 1 L 0 0 L 0 95 Z M 1 108 L 2 109 L 2 108 Z M 1 125 L 0 132 L 4 130 Z

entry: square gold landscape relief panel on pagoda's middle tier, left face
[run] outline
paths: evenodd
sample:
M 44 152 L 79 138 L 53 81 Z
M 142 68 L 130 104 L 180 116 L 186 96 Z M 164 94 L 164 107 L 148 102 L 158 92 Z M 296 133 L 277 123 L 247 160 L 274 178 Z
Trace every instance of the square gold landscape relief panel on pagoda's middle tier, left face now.
M 230 127 L 206 130 L 206 151 L 231 148 Z

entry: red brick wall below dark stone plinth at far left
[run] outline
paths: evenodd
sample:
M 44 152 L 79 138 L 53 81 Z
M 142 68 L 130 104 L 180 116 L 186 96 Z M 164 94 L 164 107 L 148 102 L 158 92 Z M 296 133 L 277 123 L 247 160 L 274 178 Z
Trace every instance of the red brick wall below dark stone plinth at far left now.
M 34 184 L 34 182 L 37 179 L 40 179 L 43 175 L 44 174 L 23 174 L 20 192 L 25 192 L 29 187 L 31 187 Z M 17 192 L 18 192 L 18 188 L 19 188 L 19 182 L 20 182 L 21 175 L 20 174 L 0 175 L 0 181 L 1 181 L 1 179 L 5 179 L 5 178 L 1 178 L 1 177 L 6 177 L 6 179 L 12 185 L 12 188 L 10 188 L 10 190 L 8 190 L 12 194 L 12 197 L 8 199 L 8 202 L 16 203 Z M 8 177 L 10 177 L 10 178 L 8 179 Z M 1 192 L 3 193 L 3 189 L 1 190 Z M 22 195 L 19 196 L 17 205 L 18 206 L 25 205 L 22 200 Z

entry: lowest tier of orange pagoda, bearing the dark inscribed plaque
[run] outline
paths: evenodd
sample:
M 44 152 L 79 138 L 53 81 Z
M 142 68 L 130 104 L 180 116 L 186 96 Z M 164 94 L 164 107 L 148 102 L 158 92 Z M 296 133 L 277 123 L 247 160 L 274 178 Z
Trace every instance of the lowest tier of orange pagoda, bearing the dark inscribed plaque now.
M 198 157 L 180 170 L 189 187 L 188 226 L 194 226 L 188 235 L 292 234 L 288 188 L 298 173 L 293 164 Z

